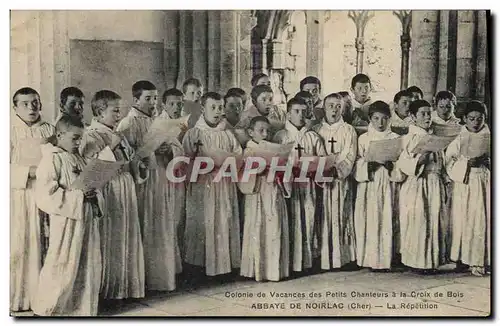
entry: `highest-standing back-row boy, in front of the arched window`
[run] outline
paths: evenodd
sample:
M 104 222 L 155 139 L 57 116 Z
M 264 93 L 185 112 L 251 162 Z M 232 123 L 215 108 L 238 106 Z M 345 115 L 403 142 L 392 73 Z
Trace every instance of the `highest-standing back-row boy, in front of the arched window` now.
M 368 118 L 368 108 L 373 102 L 370 93 L 372 91 L 372 83 L 370 77 L 365 74 L 357 74 L 351 80 L 352 98 L 352 125 L 353 126 L 368 126 L 370 119 Z

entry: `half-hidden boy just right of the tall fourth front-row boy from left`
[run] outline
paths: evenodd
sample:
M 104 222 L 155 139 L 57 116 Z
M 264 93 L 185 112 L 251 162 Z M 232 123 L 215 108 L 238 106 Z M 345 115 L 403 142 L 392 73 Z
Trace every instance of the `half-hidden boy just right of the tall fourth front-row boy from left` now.
M 176 88 L 166 90 L 162 96 L 162 111 L 157 119 L 181 119 L 184 107 L 183 94 Z M 184 126 L 187 129 L 187 124 Z M 184 182 L 172 182 L 167 167 L 174 157 L 183 156 L 182 139 L 185 133 L 181 132 L 178 139 L 171 139 L 167 143 L 167 151 L 159 159 L 159 176 L 165 187 L 167 216 L 175 225 L 175 262 L 176 273 L 182 273 L 181 253 L 184 251 L 184 227 L 186 225 L 186 185 Z M 174 173 L 172 171 L 172 173 Z

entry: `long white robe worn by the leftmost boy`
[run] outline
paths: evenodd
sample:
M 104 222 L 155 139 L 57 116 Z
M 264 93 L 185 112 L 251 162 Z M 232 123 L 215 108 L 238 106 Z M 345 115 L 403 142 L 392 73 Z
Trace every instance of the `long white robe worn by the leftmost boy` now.
M 40 215 L 35 202 L 36 179 L 29 178 L 31 162 L 26 162 L 26 141 L 43 141 L 54 134 L 54 127 L 39 120 L 28 126 L 12 113 L 10 128 L 10 309 L 29 310 L 31 297 L 42 268 Z M 43 214 L 43 213 L 42 213 Z

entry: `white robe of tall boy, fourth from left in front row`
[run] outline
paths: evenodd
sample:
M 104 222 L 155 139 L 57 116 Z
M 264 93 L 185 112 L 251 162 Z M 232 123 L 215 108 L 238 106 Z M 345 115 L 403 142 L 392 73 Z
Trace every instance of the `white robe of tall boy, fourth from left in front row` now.
M 138 150 L 143 145 L 153 118 L 132 107 L 118 124 L 116 131 L 123 134 L 130 146 Z M 139 221 L 144 247 L 146 290 L 175 290 L 175 223 L 166 207 L 164 178 L 160 177 L 157 157 L 149 157 L 149 177 L 136 184 Z

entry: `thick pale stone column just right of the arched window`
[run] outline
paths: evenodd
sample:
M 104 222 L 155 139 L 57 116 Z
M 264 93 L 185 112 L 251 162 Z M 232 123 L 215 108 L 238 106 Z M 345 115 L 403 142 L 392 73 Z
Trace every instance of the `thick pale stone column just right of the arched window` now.
M 412 15 L 409 84 L 420 87 L 424 98 L 432 101 L 436 91 L 438 68 L 439 11 L 416 10 Z

